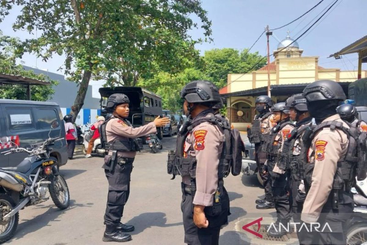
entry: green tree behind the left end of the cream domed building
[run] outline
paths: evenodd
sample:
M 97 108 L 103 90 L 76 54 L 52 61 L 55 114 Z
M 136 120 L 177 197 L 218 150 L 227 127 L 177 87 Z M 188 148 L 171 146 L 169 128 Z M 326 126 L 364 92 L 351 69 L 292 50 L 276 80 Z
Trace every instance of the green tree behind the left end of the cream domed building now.
M 248 49 L 244 49 L 240 53 L 234 48 L 214 48 L 204 53 L 205 67 L 203 71 L 221 88 L 227 84 L 228 74 L 248 73 L 264 66 L 266 59 L 252 68 L 262 58 L 258 52 L 248 53 Z

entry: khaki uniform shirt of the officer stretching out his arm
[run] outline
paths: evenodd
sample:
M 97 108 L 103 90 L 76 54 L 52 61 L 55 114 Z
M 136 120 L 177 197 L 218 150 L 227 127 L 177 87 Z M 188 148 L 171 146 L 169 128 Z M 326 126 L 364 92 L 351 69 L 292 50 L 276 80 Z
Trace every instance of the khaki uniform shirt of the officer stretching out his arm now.
M 156 125 L 154 122 L 150 122 L 147 125 L 141 127 L 131 127 L 126 124 L 123 120 L 113 117 L 107 122 L 106 125 L 106 136 L 107 142 L 115 140 L 128 140 L 128 138 L 138 138 L 151 133 L 157 133 Z M 111 155 L 112 152 L 109 152 Z M 134 158 L 136 155 L 135 151 L 119 151 L 117 156 Z

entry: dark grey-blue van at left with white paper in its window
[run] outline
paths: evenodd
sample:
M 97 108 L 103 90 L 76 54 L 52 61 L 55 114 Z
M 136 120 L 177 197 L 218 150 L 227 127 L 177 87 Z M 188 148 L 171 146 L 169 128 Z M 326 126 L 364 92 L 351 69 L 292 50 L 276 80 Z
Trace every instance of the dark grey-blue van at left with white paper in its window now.
M 51 122 L 58 120 L 59 126 L 52 130 L 50 137 L 65 137 L 65 126 L 60 107 L 56 103 L 28 100 L 0 99 L 0 137 L 8 136 L 19 147 L 29 147 L 48 138 Z M 0 152 L 7 151 L 14 144 L 0 144 Z M 17 166 L 28 154 L 0 154 L 0 167 Z M 52 146 L 50 156 L 57 159 L 59 166 L 68 161 L 66 140 Z

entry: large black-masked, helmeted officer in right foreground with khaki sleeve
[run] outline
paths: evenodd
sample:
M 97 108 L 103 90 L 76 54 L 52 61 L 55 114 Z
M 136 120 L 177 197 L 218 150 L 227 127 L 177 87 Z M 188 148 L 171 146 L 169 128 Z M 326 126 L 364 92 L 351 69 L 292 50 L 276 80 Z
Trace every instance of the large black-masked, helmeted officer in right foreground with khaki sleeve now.
M 320 232 L 309 233 L 304 229 L 300 244 L 345 244 L 345 224 L 353 212 L 350 188 L 354 176 L 350 171 L 355 164 L 346 159 L 348 135 L 337 127 L 349 128 L 336 112 L 338 104 L 345 100 L 345 94 L 337 82 L 318 80 L 308 84 L 303 95 L 317 126 L 310 137 L 309 148 L 306 140 L 302 142 L 306 145 L 304 152 L 308 152 L 305 159 L 308 159 L 305 167 L 308 171 L 301 220 L 307 224 L 318 222 L 321 228 L 328 224 L 331 230 L 320 228 Z

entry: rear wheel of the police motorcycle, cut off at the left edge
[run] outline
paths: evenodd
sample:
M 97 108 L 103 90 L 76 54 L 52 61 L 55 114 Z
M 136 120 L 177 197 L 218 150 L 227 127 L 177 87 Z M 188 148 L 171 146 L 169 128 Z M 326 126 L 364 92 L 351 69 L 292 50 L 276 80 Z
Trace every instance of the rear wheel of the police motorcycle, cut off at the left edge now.
M 6 194 L 0 194 L 0 243 L 8 241 L 14 236 L 19 222 L 19 212 L 7 221 L 3 221 L 3 217 L 17 206 L 14 200 Z

